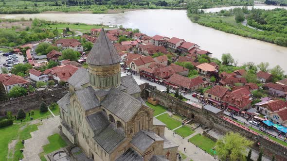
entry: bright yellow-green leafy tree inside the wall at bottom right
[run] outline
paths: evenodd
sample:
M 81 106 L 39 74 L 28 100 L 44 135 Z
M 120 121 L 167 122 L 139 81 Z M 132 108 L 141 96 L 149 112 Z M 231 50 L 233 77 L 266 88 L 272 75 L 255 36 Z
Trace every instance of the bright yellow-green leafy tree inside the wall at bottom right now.
M 239 133 L 229 132 L 215 144 L 215 150 L 222 161 L 244 161 L 246 148 L 252 142 L 241 136 Z

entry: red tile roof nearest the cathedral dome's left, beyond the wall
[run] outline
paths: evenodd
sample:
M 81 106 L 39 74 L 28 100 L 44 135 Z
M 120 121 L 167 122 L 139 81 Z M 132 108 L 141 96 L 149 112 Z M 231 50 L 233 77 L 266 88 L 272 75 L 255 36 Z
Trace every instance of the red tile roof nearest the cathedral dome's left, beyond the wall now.
M 52 75 L 55 75 L 61 81 L 67 81 L 79 68 L 73 65 L 60 65 L 51 69 Z

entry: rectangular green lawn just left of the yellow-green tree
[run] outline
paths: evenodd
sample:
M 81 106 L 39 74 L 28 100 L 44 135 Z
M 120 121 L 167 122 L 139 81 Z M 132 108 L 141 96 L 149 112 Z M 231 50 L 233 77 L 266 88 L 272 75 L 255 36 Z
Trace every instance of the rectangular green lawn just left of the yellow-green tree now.
M 197 145 L 201 149 L 205 150 L 210 155 L 213 155 L 211 153 L 211 149 L 215 146 L 215 142 L 208 137 L 205 137 L 201 134 L 197 134 L 189 139 L 189 142 L 191 142 L 194 145 Z

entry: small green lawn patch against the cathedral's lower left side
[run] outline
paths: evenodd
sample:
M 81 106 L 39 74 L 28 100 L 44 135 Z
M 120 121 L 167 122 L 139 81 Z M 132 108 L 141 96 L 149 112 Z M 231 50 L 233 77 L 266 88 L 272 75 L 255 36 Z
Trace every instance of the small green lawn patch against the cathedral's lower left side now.
M 58 150 L 61 147 L 67 146 L 67 143 L 59 134 L 54 134 L 48 137 L 50 144 L 44 145 L 43 149 L 46 154 Z

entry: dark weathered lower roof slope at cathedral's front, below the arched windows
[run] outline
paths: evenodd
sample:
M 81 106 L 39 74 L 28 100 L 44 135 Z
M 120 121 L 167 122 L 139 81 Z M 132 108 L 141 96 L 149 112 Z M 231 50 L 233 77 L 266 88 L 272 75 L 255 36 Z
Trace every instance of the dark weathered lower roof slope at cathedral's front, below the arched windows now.
M 125 134 L 120 129 L 116 129 L 114 124 L 109 124 L 106 129 L 95 135 L 93 139 L 110 153 L 125 140 Z

